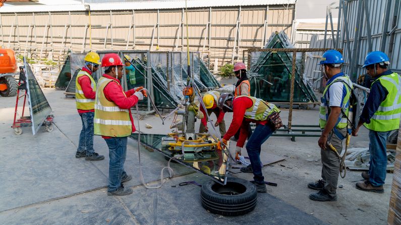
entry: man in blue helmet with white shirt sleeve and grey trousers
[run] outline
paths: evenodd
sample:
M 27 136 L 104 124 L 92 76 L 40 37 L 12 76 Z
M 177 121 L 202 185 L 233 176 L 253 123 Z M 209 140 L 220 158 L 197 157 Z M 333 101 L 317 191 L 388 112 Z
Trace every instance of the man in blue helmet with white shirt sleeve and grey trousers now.
M 338 154 L 341 154 L 342 140 L 348 132 L 347 117 L 353 88 L 349 77 L 341 72 L 343 62 L 341 53 L 328 50 L 324 52 L 319 63 L 323 76 L 328 81 L 321 98 L 319 115 L 322 134 L 318 144 L 321 148 L 322 179 L 308 184 L 308 188 L 318 190 L 317 193 L 309 195 L 309 198 L 314 201 L 337 200 L 336 189 L 340 162 L 331 146 Z

